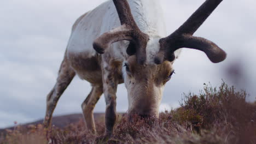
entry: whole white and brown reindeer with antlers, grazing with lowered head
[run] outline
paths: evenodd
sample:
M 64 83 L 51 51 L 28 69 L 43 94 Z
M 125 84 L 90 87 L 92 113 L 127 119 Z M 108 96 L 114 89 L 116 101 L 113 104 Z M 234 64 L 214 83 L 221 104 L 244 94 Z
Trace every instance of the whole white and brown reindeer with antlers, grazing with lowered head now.
M 194 37 L 222 0 L 206 0 L 189 19 L 166 37 L 158 0 L 113 0 L 74 23 L 54 88 L 47 96 L 44 125 L 50 127 L 61 94 L 75 75 L 91 83 L 82 104 L 87 128 L 96 133 L 93 110 L 102 93 L 106 100 L 106 135 L 117 119 L 116 92 L 125 83 L 128 116 L 159 117 L 159 105 L 173 62 L 182 47 L 200 50 L 213 62 L 226 53 L 212 41 Z

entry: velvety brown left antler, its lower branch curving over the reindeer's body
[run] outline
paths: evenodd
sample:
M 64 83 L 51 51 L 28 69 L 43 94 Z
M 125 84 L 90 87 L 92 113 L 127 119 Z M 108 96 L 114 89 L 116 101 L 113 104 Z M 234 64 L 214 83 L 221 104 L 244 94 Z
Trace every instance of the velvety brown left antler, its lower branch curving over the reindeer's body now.
M 113 0 L 117 9 L 121 26 L 106 32 L 94 41 L 94 49 L 98 53 L 104 53 L 110 44 L 121 40 L 129 40 L 130 45 L 126 52 L 128 55 L 135 55 L 137 62 L 143 64 L 146 61 L 146 46 L 149 36 L 143 33 L 132 17 L 129 3 L 126 0 Z

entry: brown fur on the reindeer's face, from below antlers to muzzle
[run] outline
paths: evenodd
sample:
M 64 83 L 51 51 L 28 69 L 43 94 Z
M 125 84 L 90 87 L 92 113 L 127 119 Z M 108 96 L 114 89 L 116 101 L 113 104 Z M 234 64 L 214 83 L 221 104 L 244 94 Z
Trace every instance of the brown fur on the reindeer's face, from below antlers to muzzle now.
M 128 82 L 132 89 L 130 97 L 132 107 L 129 115 L 136 113 L 141 116 L 158 117 L 159 102 L 161 100 L 160 89 L 170 80 L 168 76 L 172 72 L 172 63 L 165 61 L 162 64 L 140 65 L 136 57 L 131 56 L 127 60 Z

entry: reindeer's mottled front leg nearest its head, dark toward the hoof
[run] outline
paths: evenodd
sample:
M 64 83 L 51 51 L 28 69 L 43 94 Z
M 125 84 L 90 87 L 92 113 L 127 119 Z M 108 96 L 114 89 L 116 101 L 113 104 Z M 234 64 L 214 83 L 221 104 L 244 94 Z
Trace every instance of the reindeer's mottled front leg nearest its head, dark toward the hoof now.
M 118 68 L 121 66 L 121 62 L 113 62 L 108 58 L 102 59 L 102 81 L 103 92 L 106 101 L 106 135 L 111 136 L 113 134 L 113 128 L 117 119 L 117 86 L 118 86 Z

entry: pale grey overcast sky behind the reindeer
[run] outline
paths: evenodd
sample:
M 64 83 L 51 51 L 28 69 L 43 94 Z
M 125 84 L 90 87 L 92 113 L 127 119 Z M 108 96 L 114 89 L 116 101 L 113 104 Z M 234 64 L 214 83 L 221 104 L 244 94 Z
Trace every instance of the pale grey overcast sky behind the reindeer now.
M 150 0 L 149 0 L 150 1 Z M 104 0 L 9 0 L 0 5 L 0 128 L 14 121 L 43 118 L 46 95 L 54 86 L 71 27 L 86 11 Z M 160 0 L 167 33 L 172 33 L 204 0 Z M 218 64 L 203 52 L 184 49 L 174 63 L 176 75 L 166 85 L 161 110 L 177 107 L 183 93 L 199 93 L 203 83 L 219 86 L 222 79 L 244 88 L 255 100 L 256 1 L 224 0 L 195 33 L 214 41 L 227 53 Z M 172 21 L 171 21 L 172 20 Z M 90 85 L 78 77 L 62 95 L 54 115 L 82 112 Z M 119 85 L 117 110 L 128 107 L 126 89 Z M 104 112 L 104 97 L 95 112 Z

